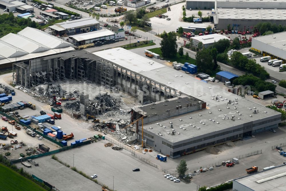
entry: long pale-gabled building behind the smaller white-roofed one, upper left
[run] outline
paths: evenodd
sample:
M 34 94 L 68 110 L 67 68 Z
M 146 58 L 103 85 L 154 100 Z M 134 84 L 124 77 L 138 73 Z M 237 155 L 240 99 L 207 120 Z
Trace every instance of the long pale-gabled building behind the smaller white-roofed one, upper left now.
M 94 18 L 83 18 L 78 20 L 66 21 L 49 26 L 52 34 L 71 34 L 80 32 L 90 32 L 99 30 L 99 22 Z

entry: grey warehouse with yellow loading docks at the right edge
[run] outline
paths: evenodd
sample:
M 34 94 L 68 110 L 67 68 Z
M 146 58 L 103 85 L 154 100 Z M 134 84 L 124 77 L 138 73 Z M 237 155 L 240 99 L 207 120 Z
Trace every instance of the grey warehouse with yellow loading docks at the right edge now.
M 285 13 L 286 16 L 286 13 Z M 285 17 L 286 18 L 286 17 Z M 261 52 L 263 56 L 271 59 L 286 61 L 286 32 L 279 32 L 252 38 L 251 49 Z

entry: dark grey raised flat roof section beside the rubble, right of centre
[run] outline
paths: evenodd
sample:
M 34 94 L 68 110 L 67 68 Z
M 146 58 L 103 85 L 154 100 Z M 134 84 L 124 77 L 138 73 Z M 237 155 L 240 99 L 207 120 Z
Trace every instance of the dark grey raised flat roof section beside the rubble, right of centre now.
M 182 96 L 177 97 L 177 98 L 172 98 L 172 99 L 168 99 L 168 100 L 164 100 L 164 101 L 160 101 L 160 102 L 136 107 L 134 109 L 134 111 L 138 112 L 142 115 L 144 112 L 144 116 L 153 116 L 152 115 L 153 113 L 156 113 L 156 115 L 160 115 L 163 113 L 176 111 L 177 110 L 176 106 L 182 106 L 182 108 L 185 108 L 186 104 L 188 104 L 189 107 L 194 106 L 194 105 L 191 105 L 190 103 L 194 104 L 194 105 L 198 105 L 198 104 L 202 104 L 204 102 L 202 102 L 201 100 L 198 100 L 196 98 L 192 98 L 192 97 L 182 95 Z M 166 110 L 169 110 L 169 111 L 166 111 Z

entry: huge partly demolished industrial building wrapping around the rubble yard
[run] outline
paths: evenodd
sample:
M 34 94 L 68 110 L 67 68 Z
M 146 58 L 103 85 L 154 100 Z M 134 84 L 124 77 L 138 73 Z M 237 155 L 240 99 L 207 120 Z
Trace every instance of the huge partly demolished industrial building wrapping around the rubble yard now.
M 277 128 L 281 122 L 279 112 L 124 48 L 94 53 L 79 50 L 34 59 L 17 64 L 15 70 L 17 83 L 27 87 L 32 83 L 86 78 L 119 87 L 139 103 L 154 102 L 132 110 L 131 120 L 146 118 L 144 142 L 171 158 Z M 32 78 L 25 78 L 27 75 Z M 138 140 L 142 140 L 140 125 L 138 121 Z

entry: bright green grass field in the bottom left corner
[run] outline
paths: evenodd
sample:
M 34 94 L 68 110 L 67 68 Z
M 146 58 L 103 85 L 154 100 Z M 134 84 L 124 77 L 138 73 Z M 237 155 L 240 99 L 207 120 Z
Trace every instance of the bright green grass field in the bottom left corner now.
M 21 190 L 21 191 L 41 191 L 45 190 L 35 182 L 21 176 L 14 170 L 0 164 L 0 177 L 3 181 L 0 184 L 0 190 Z

